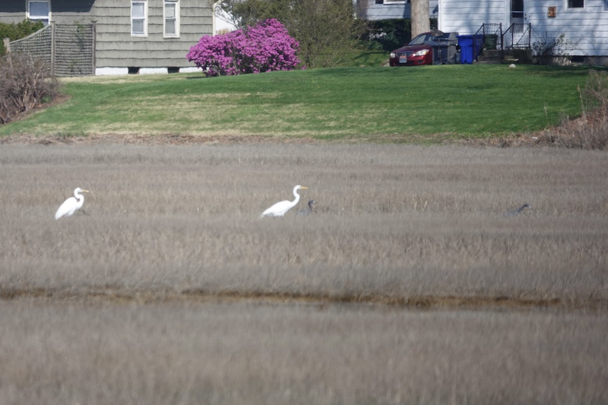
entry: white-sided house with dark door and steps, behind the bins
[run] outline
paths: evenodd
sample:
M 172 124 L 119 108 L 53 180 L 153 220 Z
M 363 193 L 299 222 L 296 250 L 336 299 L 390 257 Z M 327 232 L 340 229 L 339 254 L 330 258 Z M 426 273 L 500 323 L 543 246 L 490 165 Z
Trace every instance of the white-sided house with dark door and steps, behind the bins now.
M 505 50 L 531 47 L 538 53 L 556 44 L 554 56 L 608 66 L 608 0 L 438 2 L 438 29 L 443 32 L 496 32 Z

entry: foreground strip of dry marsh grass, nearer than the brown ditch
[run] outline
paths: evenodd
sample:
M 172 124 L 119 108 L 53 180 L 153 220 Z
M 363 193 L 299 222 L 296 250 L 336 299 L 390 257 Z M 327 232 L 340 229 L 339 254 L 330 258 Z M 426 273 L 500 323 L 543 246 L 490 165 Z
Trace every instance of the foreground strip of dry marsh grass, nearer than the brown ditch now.
M 606 315 L 0 305 L 2 404 L 603 404 Z

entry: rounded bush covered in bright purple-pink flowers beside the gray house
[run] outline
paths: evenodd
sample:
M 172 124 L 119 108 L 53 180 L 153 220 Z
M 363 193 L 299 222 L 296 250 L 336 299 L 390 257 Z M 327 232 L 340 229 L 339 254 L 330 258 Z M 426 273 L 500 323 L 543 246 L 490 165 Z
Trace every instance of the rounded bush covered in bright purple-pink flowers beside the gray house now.
M 232 76 L 295 69 L 299 47 L 285 26 L 271 18 L 244 30 L 203 36 L 186 57 L 207 77 Z

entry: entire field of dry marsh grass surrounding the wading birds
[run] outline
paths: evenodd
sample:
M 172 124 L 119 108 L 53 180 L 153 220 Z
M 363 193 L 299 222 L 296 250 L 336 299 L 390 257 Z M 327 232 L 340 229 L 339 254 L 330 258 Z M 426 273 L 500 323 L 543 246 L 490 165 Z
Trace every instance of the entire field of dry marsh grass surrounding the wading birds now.
M 606 162 L 2 145 L 0 404 L 607 403 Z

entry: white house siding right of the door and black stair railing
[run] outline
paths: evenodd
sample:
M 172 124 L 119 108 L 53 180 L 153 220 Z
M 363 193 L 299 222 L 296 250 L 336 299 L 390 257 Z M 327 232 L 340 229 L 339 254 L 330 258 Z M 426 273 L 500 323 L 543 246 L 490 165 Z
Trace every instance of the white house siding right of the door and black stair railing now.
M 528 4 L 527 22 L 532 25 L 532 43 L 563 33 L 570 55 L 608 56 L 608 10 L 604 10 L 604 0 L 585 0 L 584 9 L 566 9 L 562 1 L 524 1 Z M 556 7 L 555 17 L 547 16 L 548 6 Z

